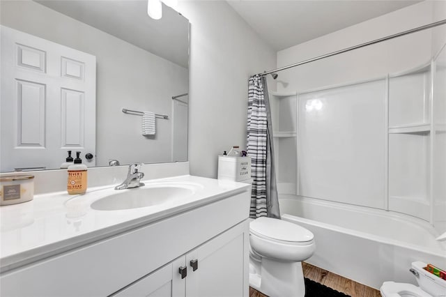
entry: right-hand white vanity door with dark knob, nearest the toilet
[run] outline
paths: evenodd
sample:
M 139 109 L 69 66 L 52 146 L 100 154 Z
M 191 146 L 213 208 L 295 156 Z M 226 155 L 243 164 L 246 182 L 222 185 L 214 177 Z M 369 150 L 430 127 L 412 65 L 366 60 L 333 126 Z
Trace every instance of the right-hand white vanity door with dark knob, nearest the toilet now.
M 238 224 L 186 254 L 187 297 L 247 296 L 248 226 Z

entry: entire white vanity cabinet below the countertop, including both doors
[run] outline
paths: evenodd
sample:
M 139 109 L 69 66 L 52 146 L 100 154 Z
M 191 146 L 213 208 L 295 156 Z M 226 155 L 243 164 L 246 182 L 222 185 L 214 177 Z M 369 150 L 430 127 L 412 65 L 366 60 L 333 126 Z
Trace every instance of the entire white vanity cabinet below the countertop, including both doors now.
M 247 297 L 249 192 L 141 219 L 114 236 L 3 272 L 0 295 Z M 187 269 L 183 279 L 180 267 Z

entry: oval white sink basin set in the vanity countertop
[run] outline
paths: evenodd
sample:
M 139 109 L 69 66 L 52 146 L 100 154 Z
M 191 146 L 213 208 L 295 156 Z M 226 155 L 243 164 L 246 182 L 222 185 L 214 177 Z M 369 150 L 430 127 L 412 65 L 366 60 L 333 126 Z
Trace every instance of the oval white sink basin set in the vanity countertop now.
M 141 188 L 116 190 L 91 204 L 96 211 L 118 211 L 166 204 L 194 194 L 190 185 L 145 185 Z

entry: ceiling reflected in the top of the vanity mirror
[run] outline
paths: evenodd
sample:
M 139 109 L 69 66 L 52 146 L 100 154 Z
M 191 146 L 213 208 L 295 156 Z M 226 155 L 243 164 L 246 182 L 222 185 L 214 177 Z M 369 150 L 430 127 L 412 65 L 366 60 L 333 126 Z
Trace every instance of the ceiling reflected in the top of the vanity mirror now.
M 147 0 L 35 1 L 188 68 L 189 21 L 164 4 L 161 20 L 153 20 Z

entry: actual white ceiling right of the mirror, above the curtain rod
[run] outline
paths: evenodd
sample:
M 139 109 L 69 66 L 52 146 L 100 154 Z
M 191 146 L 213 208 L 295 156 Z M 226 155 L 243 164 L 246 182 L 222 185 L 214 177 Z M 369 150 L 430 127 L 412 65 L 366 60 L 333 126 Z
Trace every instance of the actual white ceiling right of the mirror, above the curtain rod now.
M 421 2 L 417 0 L 227 1 L 254 31 L 277 51 Z

